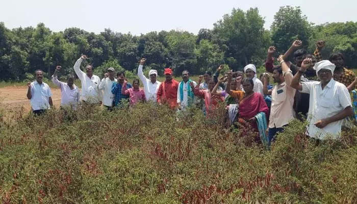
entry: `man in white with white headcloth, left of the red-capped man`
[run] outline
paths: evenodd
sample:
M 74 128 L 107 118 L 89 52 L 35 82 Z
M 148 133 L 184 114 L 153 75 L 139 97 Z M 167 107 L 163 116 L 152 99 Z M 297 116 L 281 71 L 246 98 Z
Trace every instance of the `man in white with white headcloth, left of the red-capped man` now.
M 139 79 L 144 87 L 146 101 L 152 101 L 152 102 L 156 103 L 156 101 L 157 101 L 156 97 L 157 97 L 157 93 L 158 93 L 161 82 L 156 80 L 158 77 L 158 71 L 155 69 L 150 69 L 150 71 L 149 71 L 150 79 L 147 79 L 144 76 L 143 65 L 145 64 L 145 61 L 146 61 L 145 58 L 142 58 L 140 60 L 140 65 L 138 68 L 138 76 L 139 76 Z

